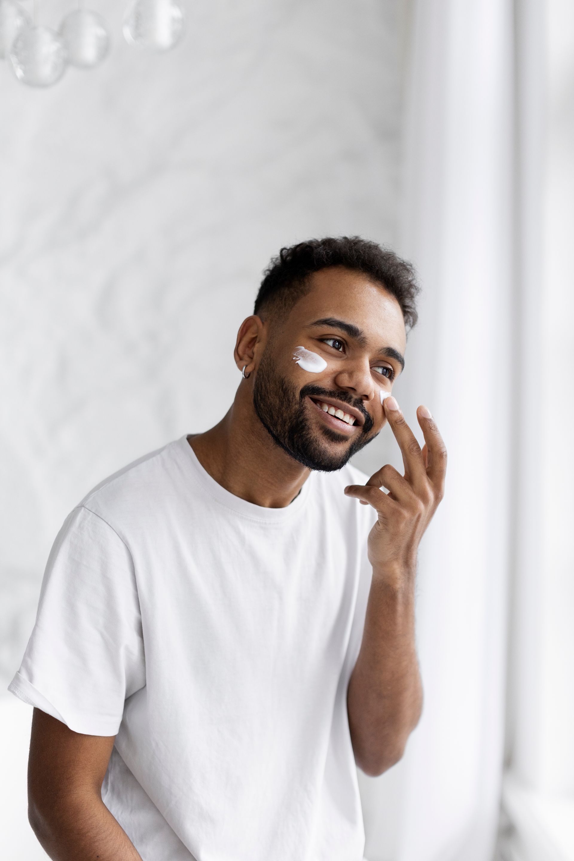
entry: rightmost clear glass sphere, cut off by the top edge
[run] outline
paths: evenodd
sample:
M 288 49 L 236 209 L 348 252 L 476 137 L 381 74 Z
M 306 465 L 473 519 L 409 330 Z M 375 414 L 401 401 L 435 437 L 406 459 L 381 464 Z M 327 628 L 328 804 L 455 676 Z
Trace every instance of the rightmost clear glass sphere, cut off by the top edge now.
M 124 17 L 128 45 L 166 51 L 182 38 L 183 9 L 178 0 L 132 0 Z

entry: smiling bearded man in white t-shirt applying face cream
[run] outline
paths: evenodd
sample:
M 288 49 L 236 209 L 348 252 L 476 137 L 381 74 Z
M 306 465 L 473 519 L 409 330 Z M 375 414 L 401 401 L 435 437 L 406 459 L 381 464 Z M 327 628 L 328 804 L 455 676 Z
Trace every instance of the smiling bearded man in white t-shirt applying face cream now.
M 421 714 L 417 546 L 446 468 L 429 411 L 421 450 L 390 395 L 417 289 L 360 238 L 283 249 L 225 417 L 66 518 L 10 685 L 51 858 L 361 861 L 355 764 L 394 765 Z M 347 461 L 386 422 L 404 476 L 366 480 Z

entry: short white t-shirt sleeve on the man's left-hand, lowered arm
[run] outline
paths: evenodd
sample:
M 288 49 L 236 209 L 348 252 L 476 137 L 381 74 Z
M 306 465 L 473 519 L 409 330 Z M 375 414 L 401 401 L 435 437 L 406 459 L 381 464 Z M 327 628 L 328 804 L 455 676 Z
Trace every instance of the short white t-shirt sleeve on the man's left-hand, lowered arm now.
M 132 556 L 102 517 L 80 506 L 53 544 L 9 691 L 77 733 L 115 735 L 127 697 L 144 685 Z

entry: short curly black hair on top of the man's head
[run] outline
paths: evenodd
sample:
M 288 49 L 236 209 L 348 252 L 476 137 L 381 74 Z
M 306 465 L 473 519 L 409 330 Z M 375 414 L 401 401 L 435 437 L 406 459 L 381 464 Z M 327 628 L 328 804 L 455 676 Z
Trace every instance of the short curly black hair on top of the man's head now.
M 263 273 L 253 313 L 289 313 L 295 303 L 309 292 L 308 276 L 330 266 L 344 266 L 362 272 L 395 297 L 407 329 L 417 323 L 416 300 L 420 288 L 412 263 L 360 236 L 308 239 L 289 248 L 281 248 Z

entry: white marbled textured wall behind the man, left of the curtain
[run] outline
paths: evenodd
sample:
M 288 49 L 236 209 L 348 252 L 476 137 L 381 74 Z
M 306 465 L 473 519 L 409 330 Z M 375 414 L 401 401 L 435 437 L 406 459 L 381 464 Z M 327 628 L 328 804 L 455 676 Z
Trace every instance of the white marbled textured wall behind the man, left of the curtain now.
M 268 257 L 319 234 L 394 240 L 398 0 L 195 0 L 164 55 L 123 43 L 123 3 L 91 5 L 114 34 L 99 70 L 31 90 L 0 65 L 3 682 L 71 507 L 225 413 Z M 2 833 L 24 821 L 12 795 Z

